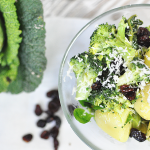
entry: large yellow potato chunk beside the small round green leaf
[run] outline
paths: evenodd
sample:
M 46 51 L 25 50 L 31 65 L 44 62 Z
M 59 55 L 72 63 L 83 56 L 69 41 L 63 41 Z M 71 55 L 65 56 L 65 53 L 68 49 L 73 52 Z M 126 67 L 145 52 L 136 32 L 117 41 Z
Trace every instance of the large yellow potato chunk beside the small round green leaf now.
M 131 110 L 125 109 L 121 115 L 117 112 L 101 112 L 97 110 L 95 112 L 95 121 L 97 125 L 120 142 L 126 142 L 129 138 L 131 123 L 127 123 L 125 126 L 126 119 Z

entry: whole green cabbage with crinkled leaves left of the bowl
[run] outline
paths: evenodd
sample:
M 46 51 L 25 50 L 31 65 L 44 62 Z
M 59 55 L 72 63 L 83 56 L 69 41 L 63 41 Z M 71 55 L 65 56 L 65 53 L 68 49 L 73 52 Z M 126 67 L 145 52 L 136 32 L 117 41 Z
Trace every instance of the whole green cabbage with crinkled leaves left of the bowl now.
M 46 67 L 42 3 L 3 0 L 0 12 L 6 28 L 6 44 L 0 52 L 0 92 L 31 92 L 41 83 Z

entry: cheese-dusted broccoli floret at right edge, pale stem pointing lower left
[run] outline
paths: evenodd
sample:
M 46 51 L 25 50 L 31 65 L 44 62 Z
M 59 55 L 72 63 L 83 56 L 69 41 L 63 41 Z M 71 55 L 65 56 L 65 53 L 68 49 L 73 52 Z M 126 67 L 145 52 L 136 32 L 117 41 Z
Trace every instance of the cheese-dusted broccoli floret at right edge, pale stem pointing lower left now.
M 130 64 L 130 69 L 118 78 L 117 85 L 137 84 L 141 81 L 148 83 L 150 81 L 150 68 L 144 61 L 135 57 Z

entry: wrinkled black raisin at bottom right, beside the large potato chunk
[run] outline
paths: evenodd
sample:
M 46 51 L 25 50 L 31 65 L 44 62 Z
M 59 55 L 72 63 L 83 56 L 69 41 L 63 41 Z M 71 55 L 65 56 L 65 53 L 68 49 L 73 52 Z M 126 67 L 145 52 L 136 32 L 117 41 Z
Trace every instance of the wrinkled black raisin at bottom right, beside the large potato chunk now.
M 146 135 L 135 128 L 131 129 L 130 137 L 135 138 L 139 142 L 144 142 L 146 140 Z

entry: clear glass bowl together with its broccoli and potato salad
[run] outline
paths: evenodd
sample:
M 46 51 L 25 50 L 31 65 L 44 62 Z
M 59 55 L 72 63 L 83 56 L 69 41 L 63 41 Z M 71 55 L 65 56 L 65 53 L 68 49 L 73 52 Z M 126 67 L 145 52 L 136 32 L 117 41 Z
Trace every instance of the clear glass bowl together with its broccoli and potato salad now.
M 150 5 L 119 7 L 68 46 L 59 95 L 68 123 L 91 149 L 150 148 Z

